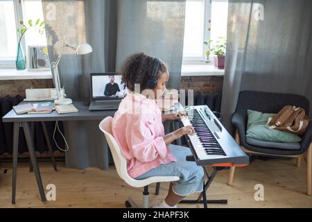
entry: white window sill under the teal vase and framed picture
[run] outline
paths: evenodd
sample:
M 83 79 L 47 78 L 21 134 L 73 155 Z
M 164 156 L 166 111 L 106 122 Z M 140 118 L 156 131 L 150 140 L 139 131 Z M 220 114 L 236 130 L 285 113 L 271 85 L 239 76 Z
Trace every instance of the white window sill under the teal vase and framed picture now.
M 0 80 L 51 79 L 51 70 L 28 71 L 0 69 Z

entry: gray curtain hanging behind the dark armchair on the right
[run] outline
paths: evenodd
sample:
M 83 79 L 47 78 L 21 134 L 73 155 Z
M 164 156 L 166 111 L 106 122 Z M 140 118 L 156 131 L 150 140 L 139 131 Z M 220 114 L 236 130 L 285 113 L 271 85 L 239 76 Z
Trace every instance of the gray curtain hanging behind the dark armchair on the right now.
M 231 118 L 239 92 L 306 96 L 312 110 L 312 1 L 229 0 L 221 111 Z

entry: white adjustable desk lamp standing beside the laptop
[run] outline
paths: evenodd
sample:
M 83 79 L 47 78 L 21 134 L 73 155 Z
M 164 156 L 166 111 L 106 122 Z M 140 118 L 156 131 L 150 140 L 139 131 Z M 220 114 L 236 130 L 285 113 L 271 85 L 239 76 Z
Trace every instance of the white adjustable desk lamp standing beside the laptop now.
M 80 44 L 77 47 L 71 46 L 67 43 L 63 43 L 63 48 L 65 47 L 69 47 L 75 50 L 77 55 L 85 55 L 88 53 L 92 53 L 92 47 L 87 43 Z M 55 62 L 51 63 L 51 68 L 53 69 L 53 74 L 54 74 L 55 89 L 56 89 L 56 96 L 57 96 L 57 99 L 55 99 L 54 104 L 55 105 L 69 105 L 73 103 L 73 101 L 69 98 L 65 98 L 66 94 L 64 92 L 64 89 L 62 89 L 60 86 L 60 75 L 58 74 L 58 63 L 60 62 L 61 58 L 62 58 L 62 53 L 60 54 L 60 56 L 58 56 L 58 59 Z

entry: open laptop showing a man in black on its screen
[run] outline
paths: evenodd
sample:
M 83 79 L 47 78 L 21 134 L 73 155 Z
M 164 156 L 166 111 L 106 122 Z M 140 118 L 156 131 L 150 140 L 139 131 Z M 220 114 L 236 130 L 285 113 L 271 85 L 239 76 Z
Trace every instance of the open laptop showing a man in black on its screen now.
M 121 74 L 105 72 L 90 74 L 89 110 L 117 110 L 121 99 L 125 96 L 125 84 Z

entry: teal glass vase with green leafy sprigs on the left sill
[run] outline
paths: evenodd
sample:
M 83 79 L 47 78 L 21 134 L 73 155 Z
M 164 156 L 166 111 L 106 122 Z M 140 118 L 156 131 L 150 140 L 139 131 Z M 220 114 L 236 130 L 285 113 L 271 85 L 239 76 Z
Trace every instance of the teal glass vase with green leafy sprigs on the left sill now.
M 17 43 L 17 56 L 15 65 L 17 70 L 23 70 L 25 69 L 25 56 L 21 47 L 21 39 L 30 28 L 35 28 L 39 33 L 42 34 L 44 32 L 44 22 L 41 22 L 40 19 L 37 19 L 35 24 L 33 24 L 33 20 L 29 19 L 28 26 L 26 26 L 23 21 L 19 22 L 19 24 L 23 28 L 17 28 L 17 33 L 19 33 L 19 42 Z

